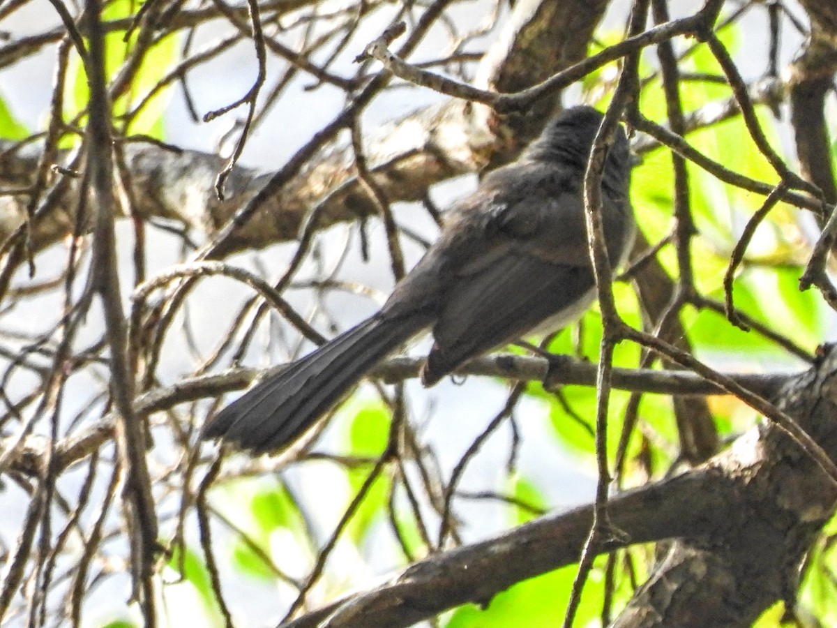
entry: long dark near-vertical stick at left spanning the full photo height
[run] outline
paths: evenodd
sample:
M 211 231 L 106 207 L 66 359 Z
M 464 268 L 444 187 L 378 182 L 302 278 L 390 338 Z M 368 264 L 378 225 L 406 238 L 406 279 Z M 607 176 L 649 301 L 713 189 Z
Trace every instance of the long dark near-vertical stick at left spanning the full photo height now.
M 118 420 L 116 445 L 125 472 L 123 495 L 131 531 L 132 595 L 138 598 L 146 625 L 157 622 L 153 590 L 157 554 L 157 513 L 151 496 L 146 463 L 145 426 L 133 412 L 134 373 L 128 356 L 127 332 L 121 305 L 114 214 L 113 162 L 110 146 L 110 101 L 105 84 L 105 37 L 101 28 L 100 0 L 86 0 L 90 41 L 90 193 L 95 201 L 92 286 L 102 300 L 110 347 L 110 391 Z M 85 193 L 85 191 L 83 191 Z

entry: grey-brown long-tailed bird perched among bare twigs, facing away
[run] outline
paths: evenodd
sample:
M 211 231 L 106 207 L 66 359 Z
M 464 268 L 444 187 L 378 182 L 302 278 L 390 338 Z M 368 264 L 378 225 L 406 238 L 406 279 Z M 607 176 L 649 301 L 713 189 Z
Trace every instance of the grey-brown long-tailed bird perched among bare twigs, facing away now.
M 516 161 L 489 172 L 455 203 L 439 239 L 379 311 L 264 378 L 203 426 L 255 454 L 287 449 L 378 363 L 430 330 L 421 368 L 431 386 L 527 333 L 571 324 L 595 301 L 583 179 L 603 114 L 565 109 Z M 635 231 L 631 156 L 622 126 L 602 176 L 608 258 L 624 263 Z

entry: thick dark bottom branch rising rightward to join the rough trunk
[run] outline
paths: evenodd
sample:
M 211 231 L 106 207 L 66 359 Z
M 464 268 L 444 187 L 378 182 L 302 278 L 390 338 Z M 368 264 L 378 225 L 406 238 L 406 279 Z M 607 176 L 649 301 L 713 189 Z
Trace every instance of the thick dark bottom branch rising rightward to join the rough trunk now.
M 736 507 L 729 487 L 717 479 L 696 471 L 615 497 L 608 504 L 610 520 L 632 543 L 706 533 Z M 716 519 L 706 517 L 707 509 Z M 376 589 L 282 628 L 398 628 L 468 602 L 486 605 L 512 584 L 576 562 L 592 523 L 592 506 L 541 517 L 497 538 L 433 554 Z

